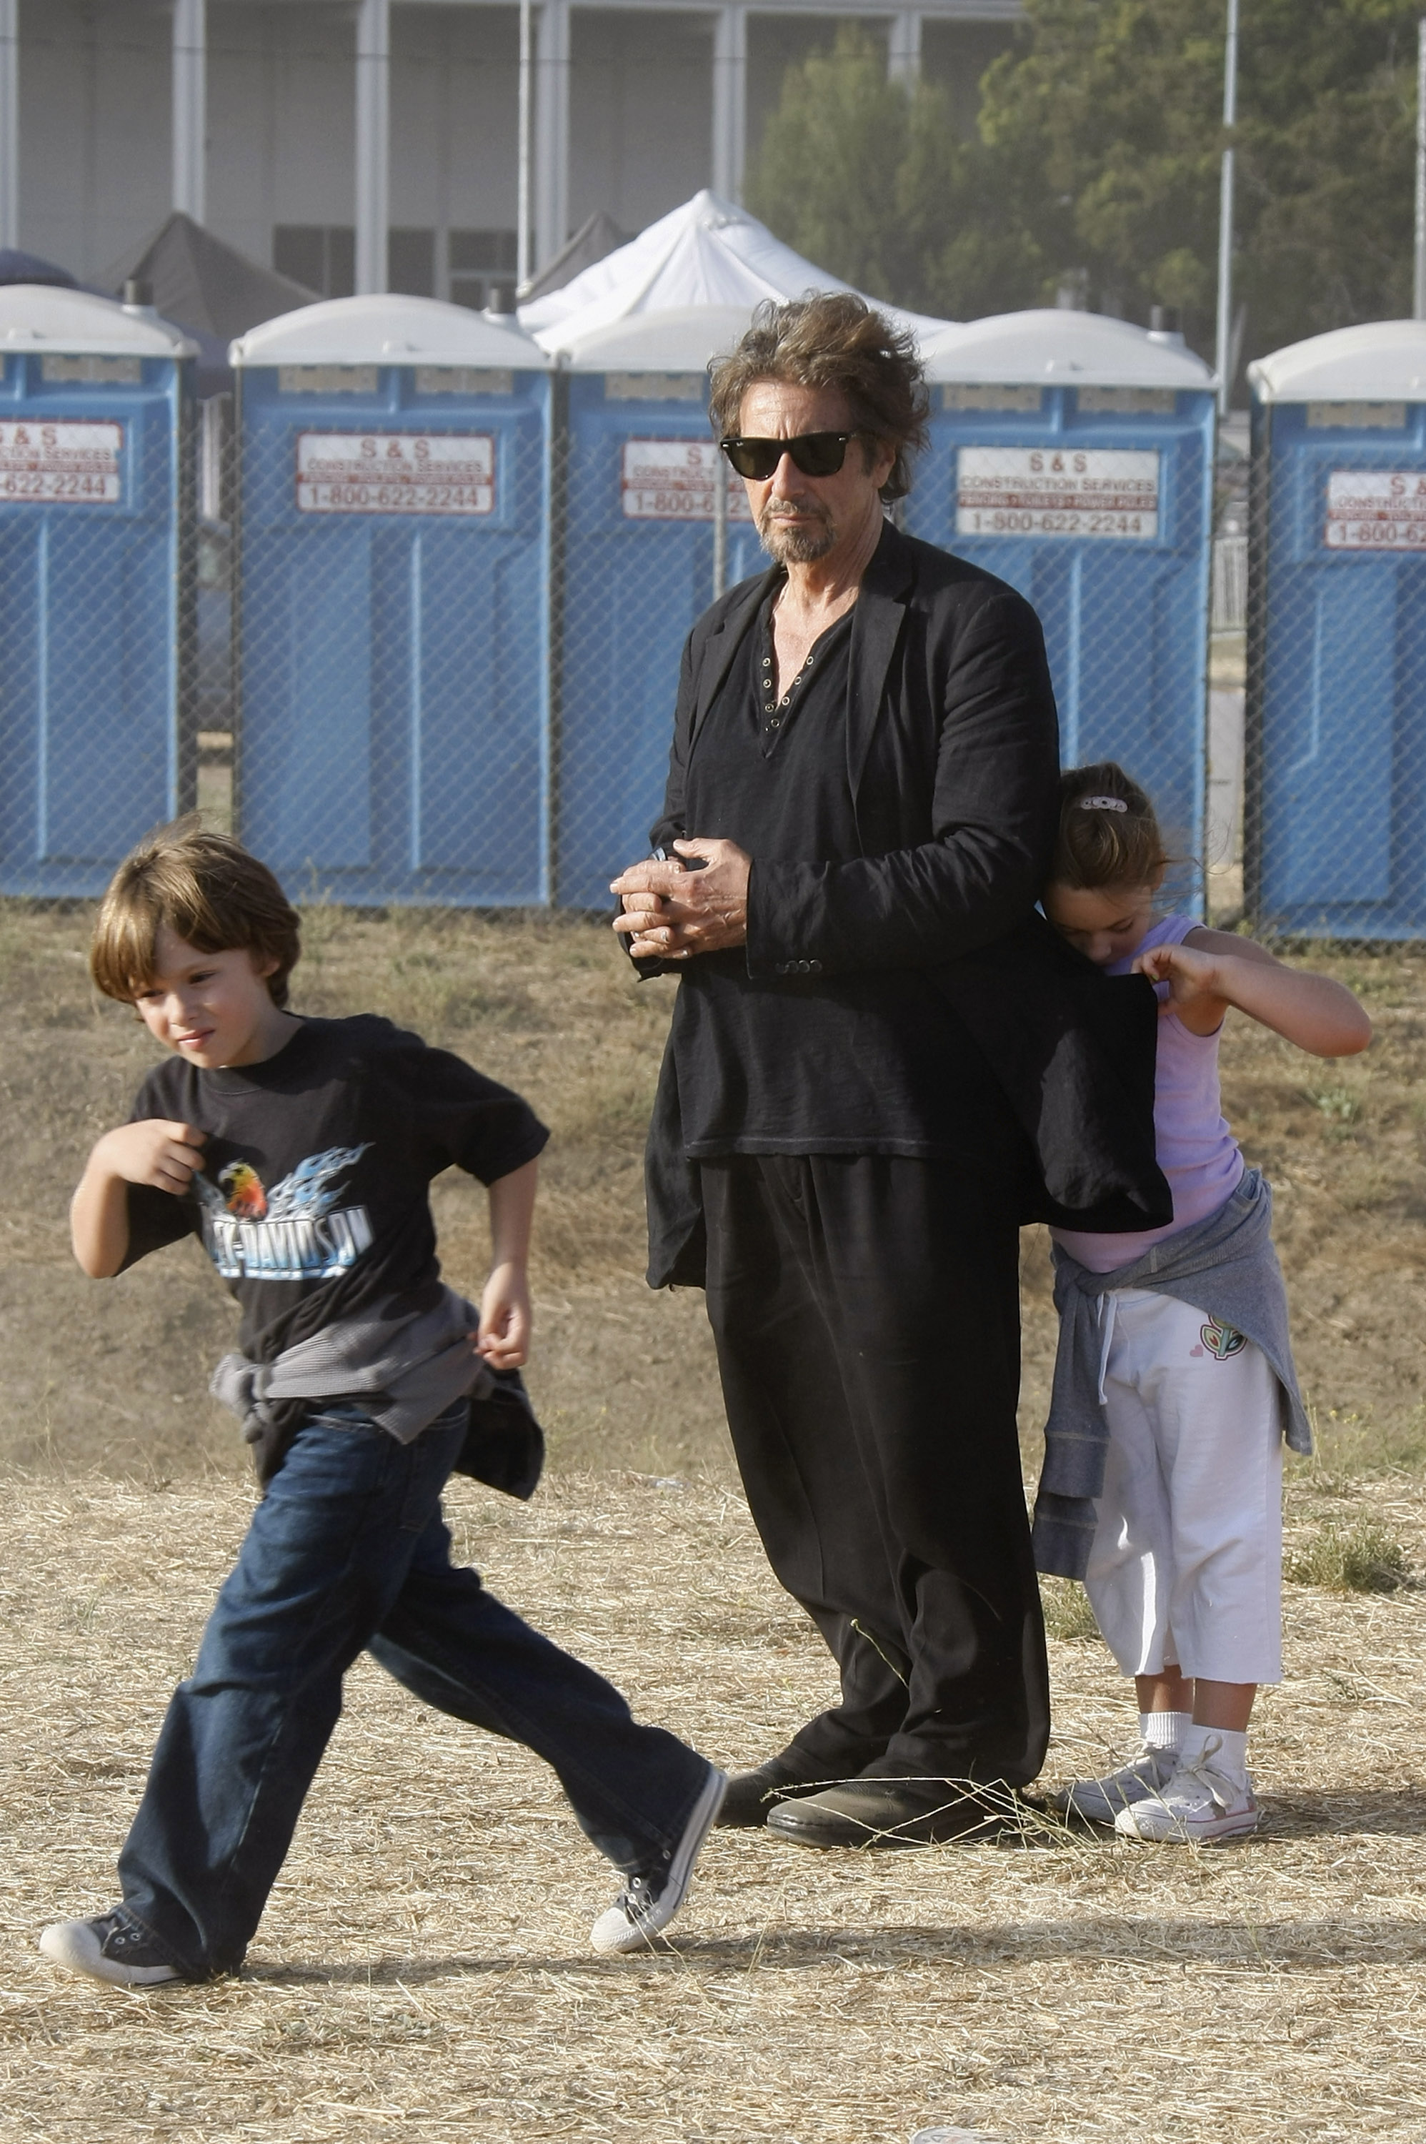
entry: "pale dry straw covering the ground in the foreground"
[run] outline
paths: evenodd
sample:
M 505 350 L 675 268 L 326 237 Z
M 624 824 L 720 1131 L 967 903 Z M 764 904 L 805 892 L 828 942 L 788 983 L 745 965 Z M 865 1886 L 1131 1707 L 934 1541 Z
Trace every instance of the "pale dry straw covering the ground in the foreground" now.
M 1422 1563 L 1420 1490 L 1360 1492 Z M 455 1497 L 495 1589 L 718 1758 L 776 1747 L 828 1662 L 738 1499 L 564 1477 Z M 1426 1595 L 1289 1595 L 1265 1835 L 1218 1850 L 815 1855 L 716 1833 L 673 1942 L 596 1960 L 609 1878 L 521 1752 L 362 1666 L 249 1972 L 129 1996 L 32 1949 L 114 1848 L 244 1492 L 15 1486 L 0 1514 L 0 2138 L 116 2144 L 1327 2144 L 1426 2135 Z M 1055 1644 L 1046 1777 L 1126 1696 Z

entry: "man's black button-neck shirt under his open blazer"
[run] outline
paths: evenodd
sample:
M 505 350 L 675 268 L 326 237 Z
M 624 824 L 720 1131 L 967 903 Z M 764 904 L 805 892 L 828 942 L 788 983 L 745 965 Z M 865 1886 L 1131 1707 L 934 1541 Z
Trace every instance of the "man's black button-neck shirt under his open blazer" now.
M 778 699 L 772 596 L 693 744 L 686 823 L 763 862 L 862 855 L 847 778 L 851 613 Z M 1008 1119 L 965 1027 L 922 969 L 748 976 L 746 954 L 682 973 L 671 1029 L 684 1151 L 903 1153 L 984 1147 Z M 1010 1134 L 1008 1134 L 1010 1136 Z

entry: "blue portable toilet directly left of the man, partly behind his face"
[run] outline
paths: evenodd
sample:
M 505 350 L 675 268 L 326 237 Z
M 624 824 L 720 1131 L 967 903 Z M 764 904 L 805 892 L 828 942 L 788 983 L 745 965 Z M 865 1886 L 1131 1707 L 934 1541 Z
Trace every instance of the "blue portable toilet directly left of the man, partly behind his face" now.
M 669 770 L 678 665 L 725 587 L 768 564 L 708 425 L 708 362 L 748 307 L 633 313 L 564 352 L 560 810 L 555 898 L 607 909 L 648 853 Z

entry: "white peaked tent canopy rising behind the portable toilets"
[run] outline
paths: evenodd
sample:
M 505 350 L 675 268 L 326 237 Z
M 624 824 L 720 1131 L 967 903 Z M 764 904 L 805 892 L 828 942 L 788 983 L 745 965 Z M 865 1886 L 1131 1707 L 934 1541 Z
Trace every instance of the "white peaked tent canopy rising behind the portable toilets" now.
M 639 313 L 716 307 L 725 324 L 729 309 L 751 315 L 763 298 L 802 298 L 808 289 L 849 285 L 802 259 L 766 223 L 705 189 L 650 223 L 626 247 L 594 262 L 564 289 L 523 304 L 519 322 L 536 343 L 560 354 L 598 328 Z M 881 300 L 871 302 L 922 341 L 948 326 Z

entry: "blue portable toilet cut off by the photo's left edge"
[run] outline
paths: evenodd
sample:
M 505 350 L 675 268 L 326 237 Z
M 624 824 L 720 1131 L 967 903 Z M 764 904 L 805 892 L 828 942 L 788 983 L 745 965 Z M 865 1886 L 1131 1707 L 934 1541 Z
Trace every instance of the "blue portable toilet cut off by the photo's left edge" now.
M 195 798 L 193 343 L 0 287 L 0 892 L 99 894 Z

